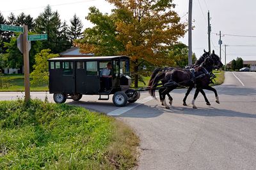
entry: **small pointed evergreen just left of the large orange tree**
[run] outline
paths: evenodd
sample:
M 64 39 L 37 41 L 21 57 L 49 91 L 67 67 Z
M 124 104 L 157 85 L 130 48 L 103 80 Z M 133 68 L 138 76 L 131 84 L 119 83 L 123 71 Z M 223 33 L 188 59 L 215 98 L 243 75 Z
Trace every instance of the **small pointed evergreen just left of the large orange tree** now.
M 83 32 L 83 24 L 79 17 L 74 15 L 74 17 L 70 20 L 70 27 L 68 28 L 68 33 L 70 36 L 71 41 L 74 41 L 74 39 L 80 39 L 82 38 Z

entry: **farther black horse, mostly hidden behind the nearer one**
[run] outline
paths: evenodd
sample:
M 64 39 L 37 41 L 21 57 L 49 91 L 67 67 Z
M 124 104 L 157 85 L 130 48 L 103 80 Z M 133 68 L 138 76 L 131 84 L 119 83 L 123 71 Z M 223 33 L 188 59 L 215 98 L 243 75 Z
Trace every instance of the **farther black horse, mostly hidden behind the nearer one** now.
M 213 52 L 214 52 L 214 51 L 213 51 Z M 209 55 L 210 55 L 210 52 L 206 52 L 206 51 L 204 50 L 204 54 L 203 54 L 198 60 L 196 60 L 196 63 L 195 63 L 193 66 L 186 67 L 186 69 L 195 69 L 196 67 L 200 66 L 200 64 L 202 64 L 202 62 L 204 62 L 204 60 L 205 60 Z M 166 73 L 167 71 L 171 71 L 171 70 L 173 70 L 173 69 L 177 69 L 177 68 L 176 68 L 176 67 L 164 67 L 163 69 L 162 69 L 162 68 L 157 68 L 157 69 L 155 69 L 154 72 L 153 72 L 152 75 L 151 75 L 150 81 L 149 81 L 149 83 L 148 83 L 148 87 L 151 87 L 151 85 L 152 85 L 152 83 L 153 83 L 153 81 L 154 81 L 154 78 L 156 77 L 157 74 L 158 74 L 158 76 L 164 77 L 164 75 L 165 75 L 165 73 Z M 179 68 L 179 69 L 182 69 L 182 68 Z M 162 84 L 163 84 L 163 81 L 162 81 Z M 191 90 L 192 90 L 194 87 L 195 87 L 195 85 L 191 85 L 191 86 L 189 87 L 188 91 L 186 92 L 186 96 L 185 96 L 184 99 L 183 99 L 183 105 L 184 105 L 184 106 L 187 106 L 187 104 L 186 104 L 186 99 L 187 99 L 189 93 L 191 92 Z M 199 91 L 201 92 L 201 94 L 204 96 L 204 99 L 205 99 L 206 104 L 207 104 L 207 105 L 211 105 L 211 104 L 209 103 L 209 101 L 208 101 L 206 95 L 205 95 L 204 90 L 202 90 L 202 89 L 198 89 L 198 90 L 199 90 Z M 172 96 L 170 96 L 170 94 L 166 94 L 166 95 L 167 95 L 168 98 L 169 98 L 169 103 L 170 103 L 170 105 L 172 105 L 172 101 L 173 101 Z M 163 101 L 161 101 L 161 103 L 162 103 L 162 105 L 164 105 Z

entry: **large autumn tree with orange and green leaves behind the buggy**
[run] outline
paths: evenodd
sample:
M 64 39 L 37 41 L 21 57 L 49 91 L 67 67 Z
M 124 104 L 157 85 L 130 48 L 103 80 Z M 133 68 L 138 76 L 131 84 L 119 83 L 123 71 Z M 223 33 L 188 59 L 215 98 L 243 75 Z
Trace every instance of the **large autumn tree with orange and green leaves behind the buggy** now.
M 134 86 L 138 71 L 147 62 L 151 66 L 172 66 L 170 48 L 186 33 L 172 0 L 107 0 L 115 5 L 110 15 L 95 7 L 86 17 L 95 26 L 84 31 L 76 41 L 81 52 L 95 55 L 128 55 L 131 57 Z

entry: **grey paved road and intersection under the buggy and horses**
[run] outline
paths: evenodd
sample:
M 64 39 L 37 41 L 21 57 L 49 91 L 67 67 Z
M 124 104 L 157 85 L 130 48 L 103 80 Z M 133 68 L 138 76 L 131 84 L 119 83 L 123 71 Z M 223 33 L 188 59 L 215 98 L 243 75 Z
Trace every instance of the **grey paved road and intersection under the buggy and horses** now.
M 256 73 L 227 72 L 225 77 L 216 87 L 220 104 L 205 91 L 212 105 L 206 106 L 199 95 L 197 110 L 191 104 L 182 106 L 184 89 L 172 93 L 170 110 L 146 92 L 138 103 L 124 108 L 116 108 L 111 100 L 97 101 L 98 96 L 67 103 L 115 115 L 131 125 L 141 139 L 138 169 L 256 169 Z M 20 93 L 1 93 L 0 99 L 16 96 Z M 45 92 L 32 96 L 44 99 Z

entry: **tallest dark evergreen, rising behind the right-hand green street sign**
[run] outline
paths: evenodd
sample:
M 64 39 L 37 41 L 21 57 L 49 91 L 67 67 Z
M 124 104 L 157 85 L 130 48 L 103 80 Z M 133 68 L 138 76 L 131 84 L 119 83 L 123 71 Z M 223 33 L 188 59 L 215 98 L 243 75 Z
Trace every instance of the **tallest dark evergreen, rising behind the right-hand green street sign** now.
M 42 48 L 49 48 L 54 53 L 61 52 L 58 36 L 60 36 L 61 20 L 57 11 L 53 12 L 51 6 L 47 5 L 44 12 L 35 20 L 35 32 L 48 34 L 47 41 L 42 42 Z

